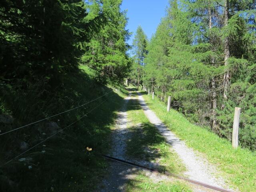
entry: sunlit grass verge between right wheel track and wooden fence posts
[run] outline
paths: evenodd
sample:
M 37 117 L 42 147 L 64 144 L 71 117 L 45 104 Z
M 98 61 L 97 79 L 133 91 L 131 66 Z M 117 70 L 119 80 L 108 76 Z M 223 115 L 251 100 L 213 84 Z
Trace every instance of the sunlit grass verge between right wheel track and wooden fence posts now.
M 198 150 L 215 164 L 229 184 L 242 192 L 256 191 L 256 153 L 248 149 L 232 148 L 232 144 L 208 130 L 190 123 L 182 114 L 171 109 L 166 112 L 166 105 L 158 98 L 144 94 L 148 106 L 166 126 L 186 144 Z

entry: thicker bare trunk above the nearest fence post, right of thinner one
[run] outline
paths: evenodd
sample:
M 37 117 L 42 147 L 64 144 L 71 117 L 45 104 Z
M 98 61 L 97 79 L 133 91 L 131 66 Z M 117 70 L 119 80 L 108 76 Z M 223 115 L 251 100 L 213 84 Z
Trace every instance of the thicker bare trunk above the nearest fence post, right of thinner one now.
M 224 26 L 228 25 L 228 0 L 225 0 L 225 10 L 224 10 Z M 230 50 L 229 50 L 229 40 L 228 37 L 224 40 L 224 66 L 228 65 L 228 58 L 230 58 Z M 228 99 L 227 93 L 228 93 L 228 85 L 229 85 L 229 78 L 230 78 L 230 72 L 228 70 L 225 71 L 224 74 L 224 91 L 223 91 L 223 98 L 224 100 Z M 224 104 L 222 104 L 222 108 L 224 108 Z

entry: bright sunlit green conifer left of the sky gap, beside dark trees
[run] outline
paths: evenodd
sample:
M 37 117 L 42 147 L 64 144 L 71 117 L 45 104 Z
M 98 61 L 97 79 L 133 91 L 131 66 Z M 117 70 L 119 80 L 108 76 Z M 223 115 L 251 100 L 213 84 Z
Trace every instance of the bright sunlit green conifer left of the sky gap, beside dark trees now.
M 126 12 L 120 11 L 120 0 L 104 0 L 103 12 L 108 15 L 104 27 L 92 40 L 86 44 L 88 51 L 82 57 L 82 62 L 94 70 L 95 80 L 106 84 L 108 80 L 121 82 L 128 74 L 130 59 L 126 40 L 130 33 L 125 29 Z M 93 12 L 94 8 L 90 7 Z

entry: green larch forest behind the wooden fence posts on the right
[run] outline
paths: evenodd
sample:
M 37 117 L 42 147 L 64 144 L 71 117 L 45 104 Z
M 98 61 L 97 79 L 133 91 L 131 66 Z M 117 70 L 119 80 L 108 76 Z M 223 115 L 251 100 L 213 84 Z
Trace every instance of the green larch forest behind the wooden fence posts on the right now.
M 240 107 L 240 145 L 256 150 L 255 8 L 254 0 L 170 0 L 150 41 L 138 27 L 130 80 L 228 140 Z

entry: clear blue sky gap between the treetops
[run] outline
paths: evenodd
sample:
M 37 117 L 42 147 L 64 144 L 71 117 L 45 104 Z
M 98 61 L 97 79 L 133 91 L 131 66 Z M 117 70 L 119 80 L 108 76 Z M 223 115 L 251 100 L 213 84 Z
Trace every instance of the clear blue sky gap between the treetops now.
M 133 32 L 128 43 L 131 45 L 137 27 L 140 25 L 148 39 L 156 32 L 162 17 L 165 16 L 168 0 L 123 0 L 122 10 L 128 10 L 127 29 Z

